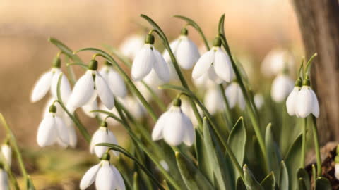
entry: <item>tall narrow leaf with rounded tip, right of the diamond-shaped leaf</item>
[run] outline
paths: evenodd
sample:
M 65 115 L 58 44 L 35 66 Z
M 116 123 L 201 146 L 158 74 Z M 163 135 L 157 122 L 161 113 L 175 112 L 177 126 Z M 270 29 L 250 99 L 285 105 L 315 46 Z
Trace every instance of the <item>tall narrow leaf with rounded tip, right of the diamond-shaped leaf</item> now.
M 281 155 L 280 155 L 278 145 L 274 141 L 272 125 L 270 123 L 266 127 L 265 145 L 266 145 L 266 153 L 268 157 L 268 165 L 270 166 L 270 170 L 273 171 L 275 177 L 279 179 Z

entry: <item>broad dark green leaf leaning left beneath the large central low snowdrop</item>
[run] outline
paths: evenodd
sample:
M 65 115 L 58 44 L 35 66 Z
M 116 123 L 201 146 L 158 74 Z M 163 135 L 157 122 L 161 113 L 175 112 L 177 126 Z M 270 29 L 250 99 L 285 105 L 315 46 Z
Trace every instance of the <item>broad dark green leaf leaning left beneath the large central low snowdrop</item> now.
M 179 152 L 175 153 L 175 157 L 177 158 L 179 171 L 182 174 L 182 178 L 184 179 L 187 189 L 214 189 L 208 179 L 206 179 L 206 177 L 201 174 L 198 168 L 193 163 L 191 163 L 190 160 L 182 156 L 182 154 Z

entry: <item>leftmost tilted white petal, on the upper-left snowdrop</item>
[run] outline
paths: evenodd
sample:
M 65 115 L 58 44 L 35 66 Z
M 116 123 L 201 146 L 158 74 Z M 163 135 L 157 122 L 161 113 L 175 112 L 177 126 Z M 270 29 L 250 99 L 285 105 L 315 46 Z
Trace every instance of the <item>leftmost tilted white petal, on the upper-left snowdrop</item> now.
M 47 94 L 51 87 L 53 72 L 45 72 L 34 85 L 30 101 L 39 101 Z

